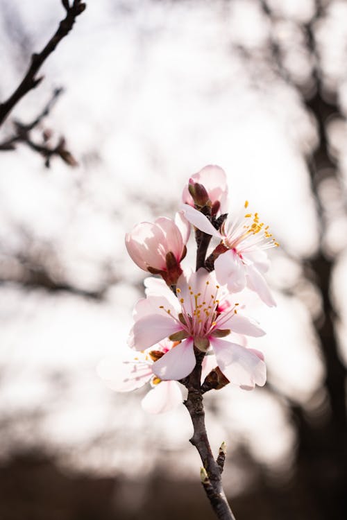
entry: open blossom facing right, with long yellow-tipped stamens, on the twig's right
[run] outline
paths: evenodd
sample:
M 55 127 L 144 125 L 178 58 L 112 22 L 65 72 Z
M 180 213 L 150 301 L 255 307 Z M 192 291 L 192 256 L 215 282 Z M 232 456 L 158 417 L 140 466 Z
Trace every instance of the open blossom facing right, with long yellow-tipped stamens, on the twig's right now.
M 258 214 L 246 213 L 235 222 L 228 217 L 219 232 L 200 211 L 189 205 L 185 205 L 184 211 L 187 220 L 195 227 L 221 239 L 214 250 L 214 269 L 219 283 L 233 293 L 247 286 L 266 305 L 276 306 L 263 275 L 269 268 L 265 250 L 278 246 L 278 243 L 269 232 L 269 226 L 260 222 Z

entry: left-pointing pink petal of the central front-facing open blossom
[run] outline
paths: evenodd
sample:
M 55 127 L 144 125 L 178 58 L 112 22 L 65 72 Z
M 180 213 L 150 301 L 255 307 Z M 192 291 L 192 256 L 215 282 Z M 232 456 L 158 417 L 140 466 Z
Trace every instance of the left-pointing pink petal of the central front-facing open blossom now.
M 144 350 L 180 330 L 182 326 L 169 315 L 146 315 L 133 325 L 128 345 L 135 350 Z

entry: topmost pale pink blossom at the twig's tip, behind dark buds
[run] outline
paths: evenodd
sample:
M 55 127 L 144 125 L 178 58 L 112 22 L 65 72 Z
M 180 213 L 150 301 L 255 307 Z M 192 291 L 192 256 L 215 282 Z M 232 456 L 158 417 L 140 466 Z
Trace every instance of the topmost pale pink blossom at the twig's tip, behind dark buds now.
M 226 173 L 220 166 L 205 166 L 198 173 L 194 173 L 189 179 L 189 184 L 202 184 L 208 193 L 215 213 L 219 209 L 221 213 L 226 211 L 228 206 L 228 185 L 226 183 Z M 189 193 L 189 184 L 183 189 L 182 198 L 185 204 L 194 207 L 194 200 Z

